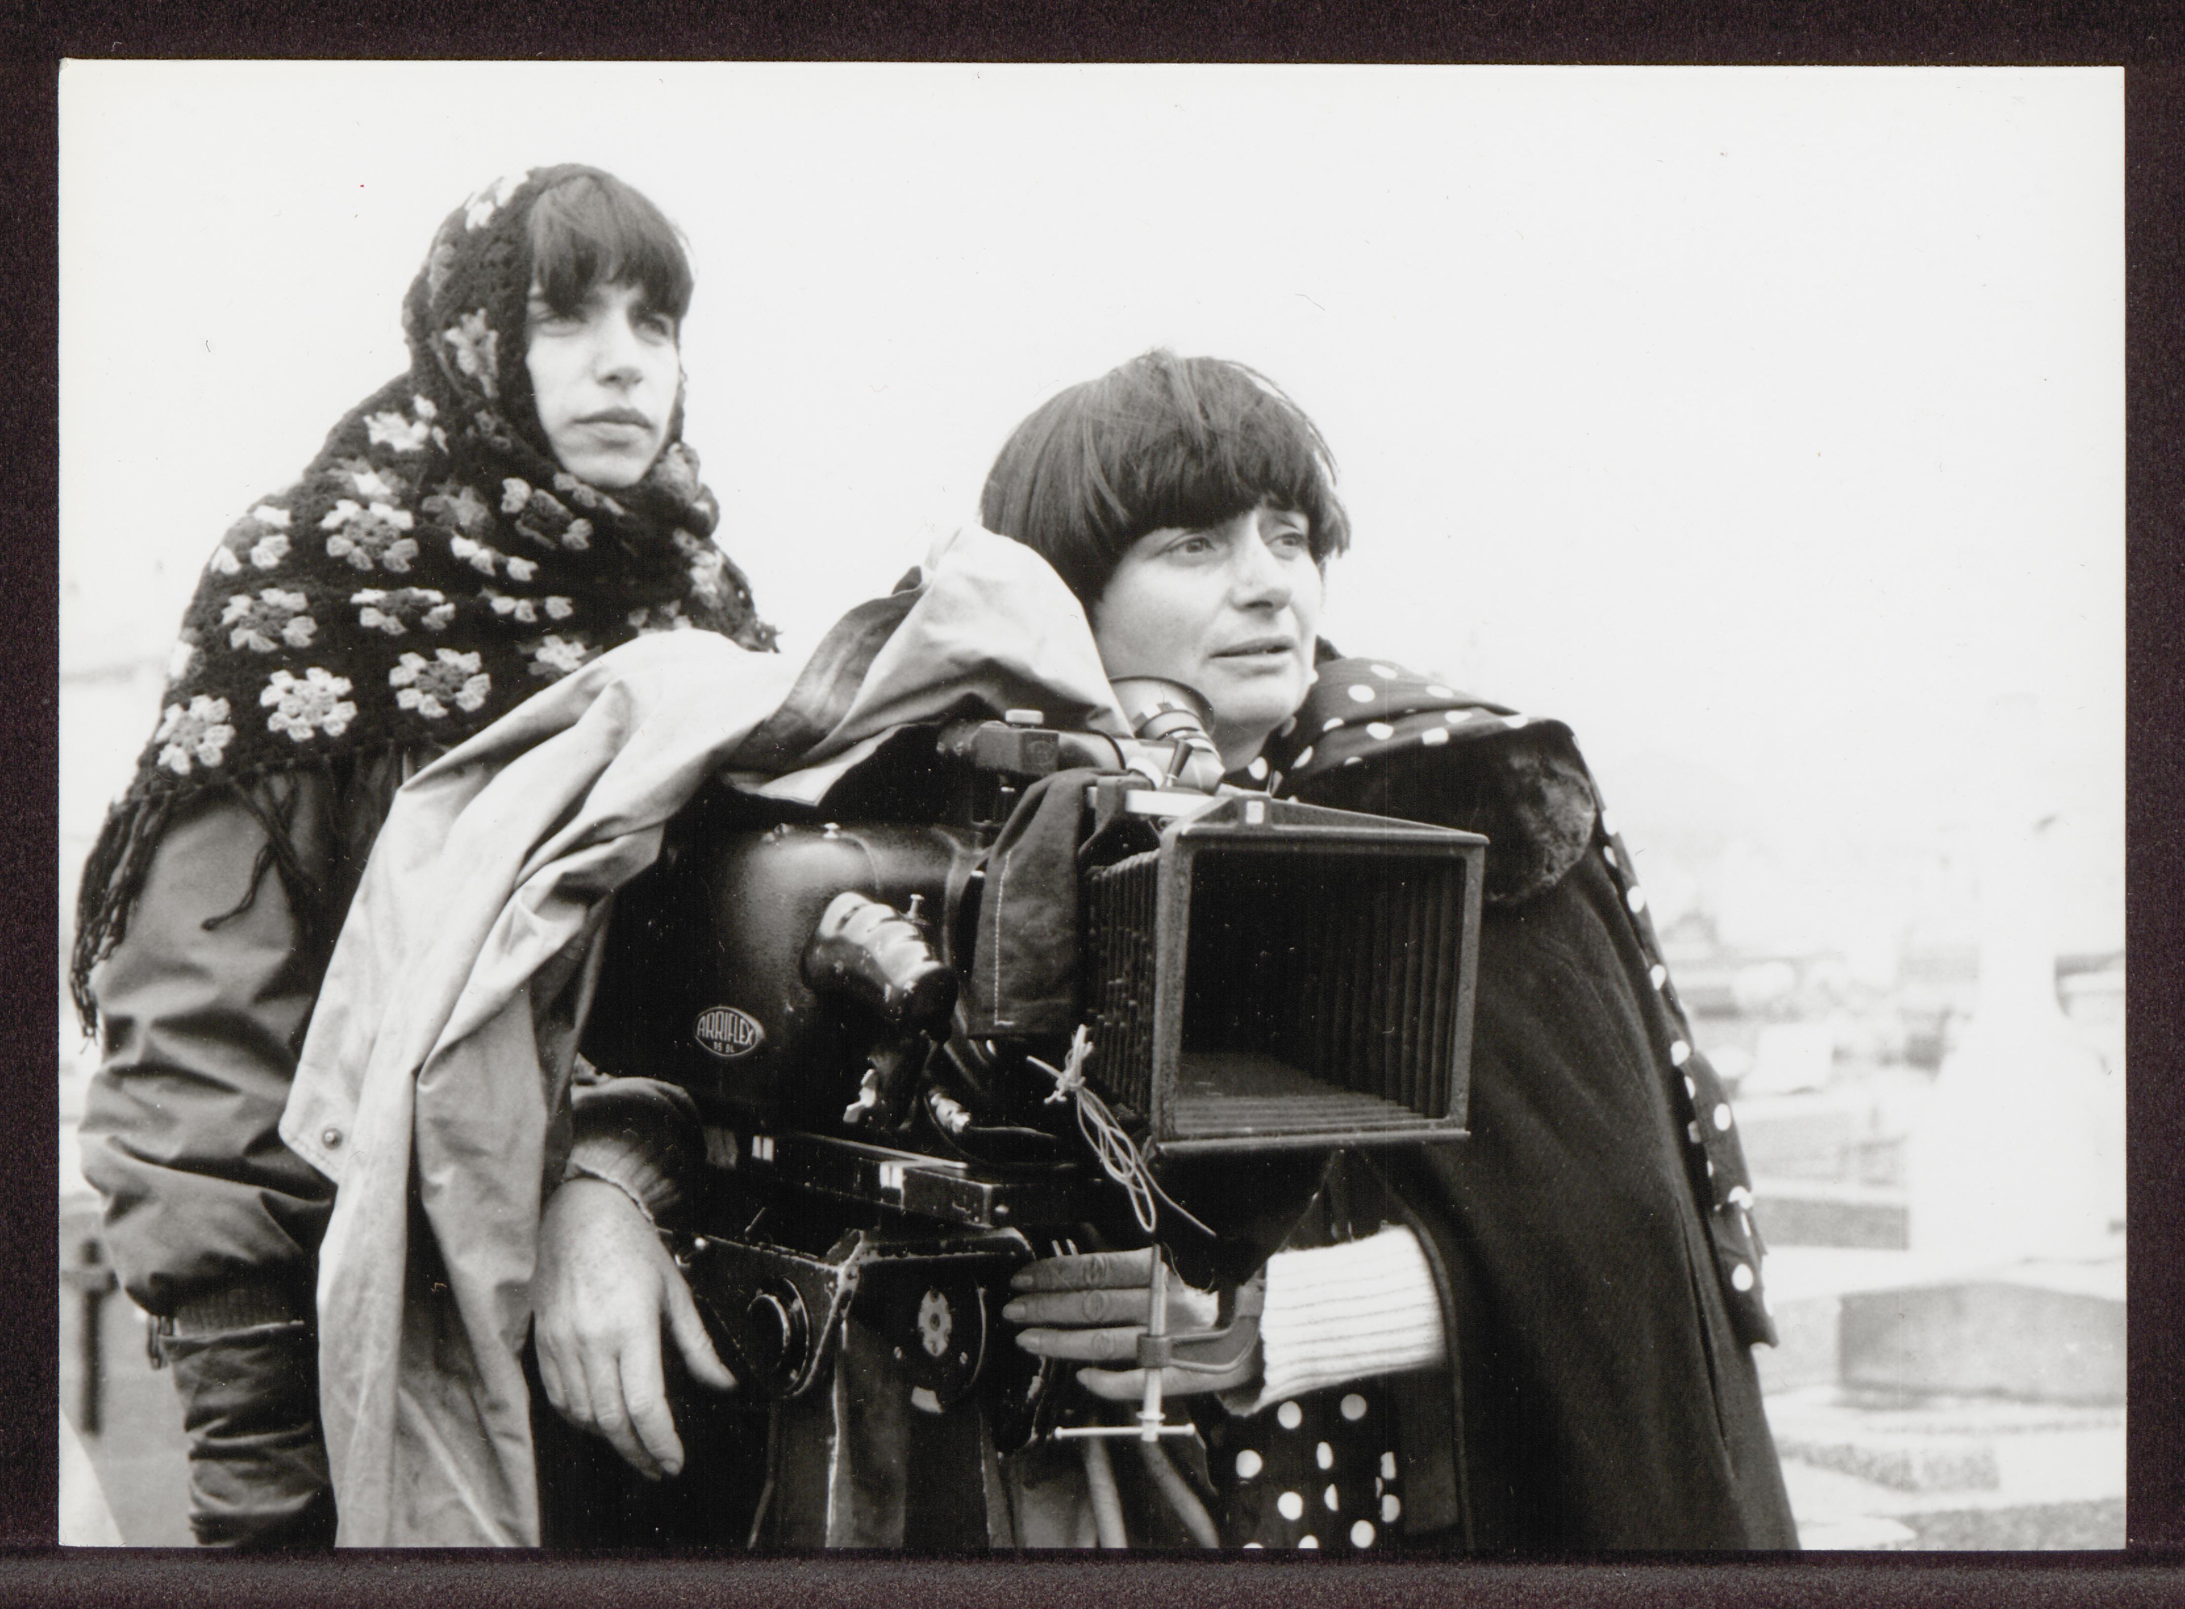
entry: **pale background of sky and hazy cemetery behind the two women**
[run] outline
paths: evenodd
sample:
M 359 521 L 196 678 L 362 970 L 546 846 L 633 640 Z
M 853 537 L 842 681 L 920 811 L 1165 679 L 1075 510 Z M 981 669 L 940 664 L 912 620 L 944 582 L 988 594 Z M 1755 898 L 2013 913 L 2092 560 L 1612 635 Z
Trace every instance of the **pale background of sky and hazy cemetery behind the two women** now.
M 690 234 L 787 653 L 1060 384 L 1278 378 L 1359 531 L 1328 637 L 1569 720 L 1637 851 L 1805 1544 L 2122 1546 L 2119 74 L 94 63 L 61 148 L 59 958 L 216 535 L 468 188 L 599 162 Z M 181 1544 L 87 1072 L 63 1002 L 61 1410 Z

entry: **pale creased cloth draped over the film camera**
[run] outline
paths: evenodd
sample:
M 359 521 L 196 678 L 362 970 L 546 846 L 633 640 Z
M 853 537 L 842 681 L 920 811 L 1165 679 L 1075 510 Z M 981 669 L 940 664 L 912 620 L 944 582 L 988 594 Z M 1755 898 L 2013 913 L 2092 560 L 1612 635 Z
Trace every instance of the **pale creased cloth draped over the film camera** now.
M 817 797 L 977 696 L 1125 734 L 1084 611 L 1029 548 L 942 541 L 804 670 L 710 633 L 601 655 L 395 797 L 282 1137 L 336 1181 L 321 1413 L 343 1546 L 538 1546 L 520 1349 L 610 895 L 714 773 Z

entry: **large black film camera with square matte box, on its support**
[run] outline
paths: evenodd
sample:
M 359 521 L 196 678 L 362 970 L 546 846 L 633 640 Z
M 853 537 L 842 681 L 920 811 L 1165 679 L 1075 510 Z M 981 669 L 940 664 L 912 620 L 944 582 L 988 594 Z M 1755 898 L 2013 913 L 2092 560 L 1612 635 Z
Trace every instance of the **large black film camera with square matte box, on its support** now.
M 1486 841 L 1226 788 L 1195 694 L 1119 696 L 1132 740 L 1012 712 L 817 808 L 712 790 L 621 895 L 586 1054 L 704 1116 L 675 1253 L 773 1404 L 773 1544 L 983 1546 L 996 1454 L 1184 1428 L 1009 1345 L 1034 1258 L 1235 1286 L 1335 1148 L 1464 1133 Z

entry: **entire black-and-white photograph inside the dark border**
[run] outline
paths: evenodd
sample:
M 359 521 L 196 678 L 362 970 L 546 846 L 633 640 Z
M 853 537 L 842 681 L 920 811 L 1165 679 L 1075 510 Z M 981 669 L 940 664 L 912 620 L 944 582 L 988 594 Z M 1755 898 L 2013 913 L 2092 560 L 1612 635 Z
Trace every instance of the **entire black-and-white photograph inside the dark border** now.
M 63 63 L 61 1546 L 2124 1548 L 2124 87 Z

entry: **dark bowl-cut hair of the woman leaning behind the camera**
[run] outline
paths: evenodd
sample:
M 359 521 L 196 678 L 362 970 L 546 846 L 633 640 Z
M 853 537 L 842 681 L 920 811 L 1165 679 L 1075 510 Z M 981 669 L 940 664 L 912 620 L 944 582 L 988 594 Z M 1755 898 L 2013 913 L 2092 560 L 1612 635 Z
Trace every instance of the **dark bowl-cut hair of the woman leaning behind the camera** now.
M 1315 563 L 1350 546 L 1335 456 L 1280 386 L 1226 358 L 1147 351 L 1040 404 L 994 458 L 979 515 L 1090 609 L 1147 531 L 1204 531 L 1261 502 L 1307 517 Z

